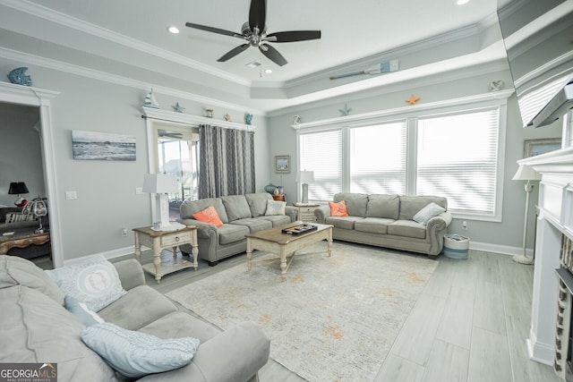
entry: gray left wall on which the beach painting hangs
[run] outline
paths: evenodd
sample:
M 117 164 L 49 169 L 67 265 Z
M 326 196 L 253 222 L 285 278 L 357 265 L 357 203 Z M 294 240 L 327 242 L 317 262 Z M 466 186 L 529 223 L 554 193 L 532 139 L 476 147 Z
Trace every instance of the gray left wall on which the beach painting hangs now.
M 5 78 L 8 72 L 21 64 L 0 58 L 0 78 Z M 54 133 L 52 149 L 56 156 L 56 198 L 60 209 L 64 260 L 95 253 L 110 256 L 121 252 L 133 253 L 131 229 L 151 223 L 150 195 L 135 194 L 135 188 L 141 187 L 143 174 L 148 173 L 149 169 L 147 132 L 145 121 L 141 118 L 141 105 L 150 89 L 98 81 L 32 64 L 26 66 L 30 68 L 28 74 L 32 76 L 35 87 L 60 92 L 51 102 L 51 111 Z M 218 119 L 229 113 L 234 121 L 243 121 L 244 112 L 247 111 L 198 105 L 158 93 L 156 97 L 163 109 L 171 110 L 170 106 L 179 102 L 186 107 L 185 113 L 193 115 L 202 115 L 204 107 L 213 106 Z M 269 174 L 267 121 L 254 115 L 252 123 L 256 126 L 257 189 L 263 191 Z M 74 160 L 71 142 L 73 130 L 132 135 L 137 140 L 137 160 Z M 4 161 L 4 155 L 2 158 Z M 65 191 L 76 191 L 78 198 L 66 200 Z M 6 192 L 7 189 L 0 190 L 3 198 Z M 10 201 L 12 197 L 8 199 Z M 127 237 L 122 237 L 122 227 L 130 230 Z

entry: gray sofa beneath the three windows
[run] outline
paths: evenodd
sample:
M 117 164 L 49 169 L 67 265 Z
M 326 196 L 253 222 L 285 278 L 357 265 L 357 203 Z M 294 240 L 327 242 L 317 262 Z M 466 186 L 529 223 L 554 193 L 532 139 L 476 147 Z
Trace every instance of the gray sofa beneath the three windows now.
M 314 210 L 319 223 L 334 225 L 334 239 L 425 253 L 430 258 L 440 254 L 452 218 L 446 198 L 341 192 L 334 196 L 335 202 L 340 200 L 345 200 L 348 216 L 330 216 L 328 205 Z M 416 223 L 415 214 L 431 202 L 446 212 L 427 225 Z

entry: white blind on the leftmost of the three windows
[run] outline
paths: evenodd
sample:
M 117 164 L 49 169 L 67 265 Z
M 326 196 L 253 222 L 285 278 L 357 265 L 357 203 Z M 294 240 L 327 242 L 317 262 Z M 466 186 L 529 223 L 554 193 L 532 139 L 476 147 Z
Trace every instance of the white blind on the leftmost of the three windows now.
M 342 191 L 342 132 L 312 132 L 300 136 L 301 170 L 314 172 L 308 199 L 332 200 Z

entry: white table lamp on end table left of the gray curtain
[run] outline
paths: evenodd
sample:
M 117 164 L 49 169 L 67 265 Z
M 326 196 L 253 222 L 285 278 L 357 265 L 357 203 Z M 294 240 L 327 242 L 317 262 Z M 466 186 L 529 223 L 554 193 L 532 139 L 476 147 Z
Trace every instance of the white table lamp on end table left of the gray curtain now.
M 179 224 L 169 222 L 169 197 L 167 193 L 178 190 L 177 178 L 168 174 L 145 174 L 143 177 L 143 192 L 155 195 L 155 220 L 153 229 L 156 231 L 174 231 L 181 228 Z

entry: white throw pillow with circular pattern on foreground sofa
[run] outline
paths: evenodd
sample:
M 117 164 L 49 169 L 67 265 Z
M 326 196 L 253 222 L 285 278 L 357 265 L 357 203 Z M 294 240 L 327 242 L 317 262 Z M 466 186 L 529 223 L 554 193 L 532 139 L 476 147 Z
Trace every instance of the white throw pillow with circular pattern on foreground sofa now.
M 104 309 L 125 294 L 117 270 L 101 255 L 46 273 L 65 295 L 85 302 L 93 311 Z

